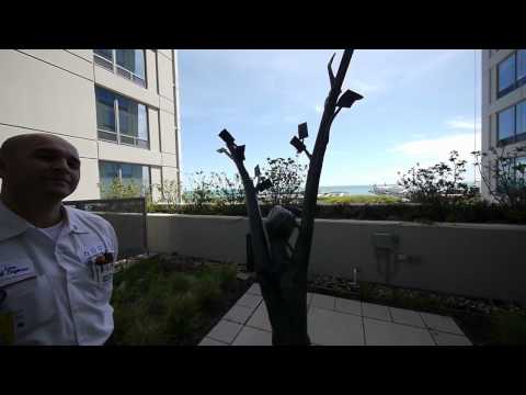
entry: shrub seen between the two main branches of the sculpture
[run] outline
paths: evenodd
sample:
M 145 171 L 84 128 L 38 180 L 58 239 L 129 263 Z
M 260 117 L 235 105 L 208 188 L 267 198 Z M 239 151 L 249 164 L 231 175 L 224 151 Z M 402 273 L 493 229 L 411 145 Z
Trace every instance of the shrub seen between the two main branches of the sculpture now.
M 307 176 L 307 165 L 300 165 L 293 158 L 266 158 L 266 161 L 268 167 L 263 169 L 263 174 L 272 182 L 266 191 L 271 203 L 293 203 Z

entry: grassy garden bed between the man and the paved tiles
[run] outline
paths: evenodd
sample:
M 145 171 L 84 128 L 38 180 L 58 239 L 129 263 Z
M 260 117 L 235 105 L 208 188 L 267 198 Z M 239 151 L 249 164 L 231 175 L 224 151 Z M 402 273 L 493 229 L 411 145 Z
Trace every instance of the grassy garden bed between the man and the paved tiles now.
M 146 258 L 114 276 L 108 346 L 196 346 L 250 287 L 238 266 L 173 255 Z

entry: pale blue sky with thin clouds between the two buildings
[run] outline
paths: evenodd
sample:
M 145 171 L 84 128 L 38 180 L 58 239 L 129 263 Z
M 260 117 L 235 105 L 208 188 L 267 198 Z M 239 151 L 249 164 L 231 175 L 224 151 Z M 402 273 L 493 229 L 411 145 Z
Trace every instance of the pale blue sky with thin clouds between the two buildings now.
M 183 188 L 196 171 L 236 167 L 218 137 L 227 128 L 245 145 L 250 173 L 266 158 L 296 157 L 289 144 L 307 122 L 312 151 L 329 93 L 327 64 L 342 49 L 179 50 Z M 446 161 L 456 149 L 472 163 L 480 149 L 480 50 L 357 49 L 342 91 L 364 99 L 334 120 L 321 187 L 396 183 L 415 166 Z M 468 166 L 466 180 L 473 180 Z

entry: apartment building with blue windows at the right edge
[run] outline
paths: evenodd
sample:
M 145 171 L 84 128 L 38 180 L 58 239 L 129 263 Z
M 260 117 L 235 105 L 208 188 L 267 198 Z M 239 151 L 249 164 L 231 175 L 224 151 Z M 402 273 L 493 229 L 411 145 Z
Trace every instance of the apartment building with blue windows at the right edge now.
M 526 49 L 482 50 L 482 151 L 483 163 L 495 163 L 489 151 L 494 147 L 500 153 L 513 153 L 526 145 Z M 526 163 L 526 153 L 515 162 Z M 485 173 L 492 189 L 496 180 Z M 524 177 L 516 173 L 515 177 Z M 481 193 L 491 200 L 488 185 L 481 182 Z

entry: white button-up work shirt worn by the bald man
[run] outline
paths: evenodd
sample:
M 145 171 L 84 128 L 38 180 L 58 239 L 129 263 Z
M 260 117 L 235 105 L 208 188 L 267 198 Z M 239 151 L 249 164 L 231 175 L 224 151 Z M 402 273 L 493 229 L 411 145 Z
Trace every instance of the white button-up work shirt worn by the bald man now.
M 61 212 L 53 240 L 53 229 L 36 228 L 0 201 L 0 345 L 94 346 L 113 331 L 115 230 L 95 214 Z M 107 263 L 95 264 L 105 252 Z

